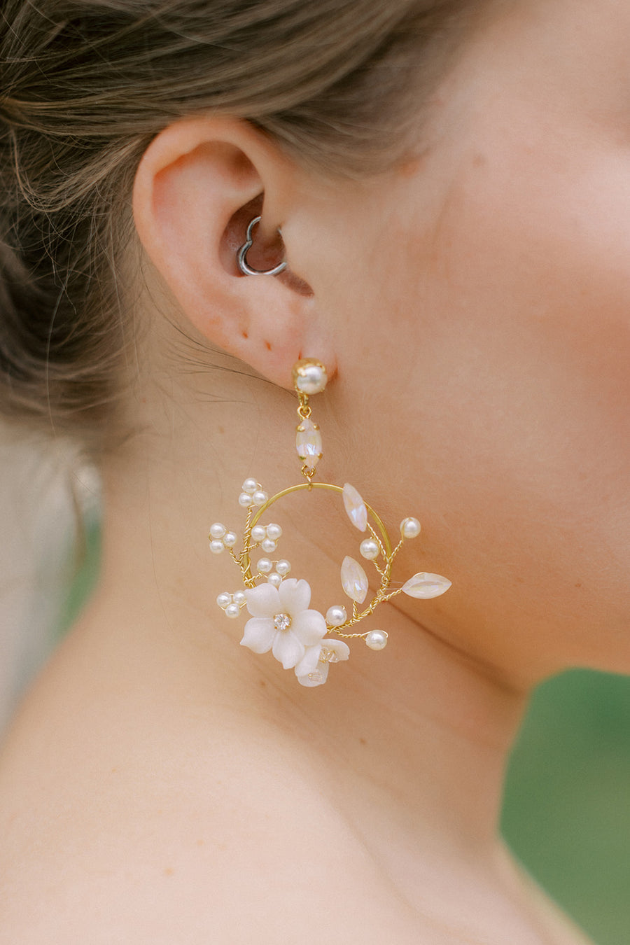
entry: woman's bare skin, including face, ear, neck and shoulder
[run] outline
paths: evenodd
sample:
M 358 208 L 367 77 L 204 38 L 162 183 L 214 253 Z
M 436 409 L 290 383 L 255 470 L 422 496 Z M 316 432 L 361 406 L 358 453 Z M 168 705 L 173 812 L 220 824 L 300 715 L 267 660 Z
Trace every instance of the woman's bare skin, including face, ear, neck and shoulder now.
M 8 941 L 93 941 L 103 917 L 153 945 L 580 940 L 496 825 L 530 687 L 630 670 L 629 62 L 625 0 L 492 4 L 417 158 L 378 178 L 324 180 L 213 115 L 149 146 L 141 432 L 106 458 L 100 593 L 5 752 Z M 263 192 L 277 279 L 235 266 Z M 195 333 L 230 370 L 178 372 Z M 206 542 L 246 475 L 298 479 L 300 353 L 331 377 L 322 476 L 421 521 L 401 580 L 453 582 L 400 594 L 387 648 L 353 644 L 313 692 L 214 613 L 234 562 Z M 287 503 L 282 554 L 325 612 L 348 523 L 312 503 Z

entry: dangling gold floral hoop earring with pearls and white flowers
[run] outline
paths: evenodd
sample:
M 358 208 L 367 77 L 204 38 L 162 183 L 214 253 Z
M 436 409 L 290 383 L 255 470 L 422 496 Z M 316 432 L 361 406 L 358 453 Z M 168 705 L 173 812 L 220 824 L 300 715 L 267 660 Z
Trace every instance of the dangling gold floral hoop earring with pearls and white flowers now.
M 319 427 L 311 420 L 309 397 L 326 387 L 326 368 L 314 358 L 304 358 L 293 369 L 293 381 L 298 394 L 296 449 L 304 481 L 269 498 L 255 478 L 246 479 L 238 497 L 239 506 L 247 510 L 242 550 L 234 551 L 238 536 L 220 522 L 211 526 L 210 550 L 213 554 L 227 550 L 241 572 L 244 590 L 224 591 L 216 598 L 227 617 L 236 618 L 244 607 L 247 608 L 250 619 L 245 625 L 241 644 L 254 653 L 272 650 L 284 669 L 295 670 L 298 682 L 303 686 L 319 686 L 326 682 L 331 663 L 348 660 L 349 646 L 345 640 L 361 637 L 373 650 L 381 650 L 387 644 L 387 633 L 381 629 L 348 632 L 370 617 L 379 604 L 399 593 L 424 600 L 438 597 L 449 590 L 451 581 L 440 575 L 419 572 L 401 587 L 392 586 L 394 559 L 404 541 L 420 534 L 420 524 L 415 518 L 403 519 L 400 539 L 392 547 L 383 520 L 353 486 L 346 483 L 341 487 L 315 481 L 315 464 L 322 457 L 322 441 Z M 364 607 L 369 591 L 366 572 L 355 558 L 346 556 L 341 565 L 341 586 L 352 607 L 348 611 L 341 604 L 333 604 L 326 611 L 326 617 L 317 610 L 310 610 L 311 587 L 308 581 L 288 577 L 290 562 L 272 557 L 282 529 L 280 524 L 267 520 L 268 510 L 281 499 L 294 492 L 315 489 L 340 494 L 351 524 L 366 536 L 359 545 L 359 553 L 372 562 L 379 579 L 378 590 Z M 252 553 L 257 549 L 264 554 L 252 566 Z M 332 639 L 331 633 L 340 639 Z

